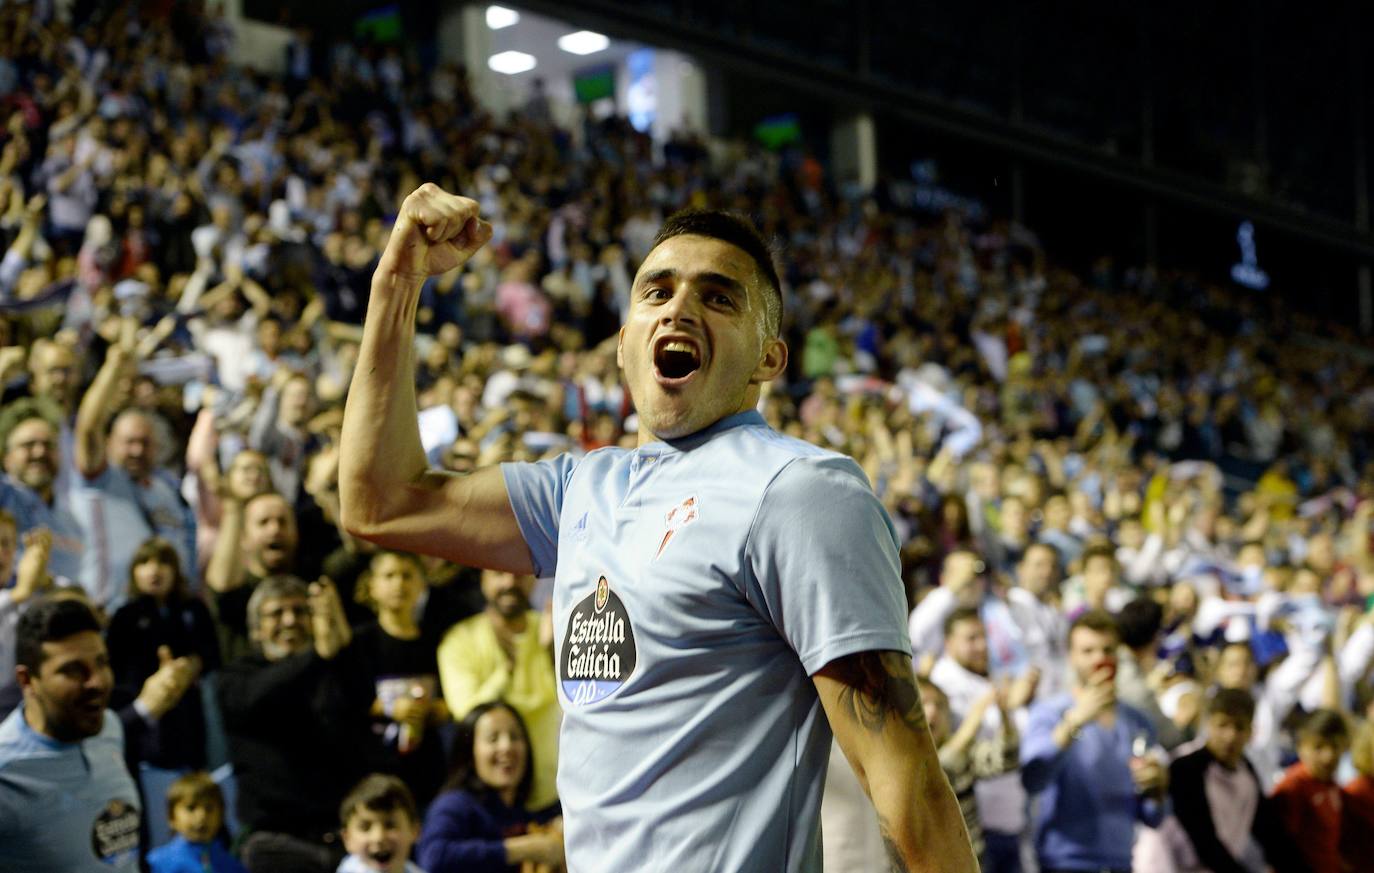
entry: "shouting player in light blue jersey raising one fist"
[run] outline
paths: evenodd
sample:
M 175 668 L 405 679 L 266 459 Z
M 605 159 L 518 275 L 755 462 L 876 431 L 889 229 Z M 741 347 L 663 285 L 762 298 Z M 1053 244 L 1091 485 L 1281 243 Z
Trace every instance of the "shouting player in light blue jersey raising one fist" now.
M 569 869 L 820 870 L 834 731 L 893 869 L 977 870 L 922 715 L 892 524 L 853 461 L 754 411 L 787 363 L 757 231 L 679 213 L 640 265 L 617 348 L 635 450 L 453 476 L 420 447 L 415 309 L 491 234 L 433 184 L 403 203 L 349 389 L 342 514 L 389 549 L 555 576 Z

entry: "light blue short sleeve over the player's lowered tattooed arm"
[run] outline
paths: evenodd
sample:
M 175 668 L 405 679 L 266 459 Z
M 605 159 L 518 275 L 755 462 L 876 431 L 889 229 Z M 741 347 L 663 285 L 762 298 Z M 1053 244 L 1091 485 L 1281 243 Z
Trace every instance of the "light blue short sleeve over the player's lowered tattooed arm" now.
M 745 586 L 808 674 L 856 652 L 911 654 L 896 532 L 848 458 L 797 458 L 774 477 Z

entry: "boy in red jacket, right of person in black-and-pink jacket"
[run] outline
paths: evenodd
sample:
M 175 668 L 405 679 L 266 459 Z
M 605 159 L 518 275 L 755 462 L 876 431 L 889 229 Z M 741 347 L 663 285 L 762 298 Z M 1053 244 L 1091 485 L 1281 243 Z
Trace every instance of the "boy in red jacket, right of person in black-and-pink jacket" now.
M 1298 762 L 1274 789 L 1274 803 L 1311 873 L 1341 873 L 1341 789 L 1336 767 L 1351 744 L 1345 718 L 1318 709 L 1297 730 Z

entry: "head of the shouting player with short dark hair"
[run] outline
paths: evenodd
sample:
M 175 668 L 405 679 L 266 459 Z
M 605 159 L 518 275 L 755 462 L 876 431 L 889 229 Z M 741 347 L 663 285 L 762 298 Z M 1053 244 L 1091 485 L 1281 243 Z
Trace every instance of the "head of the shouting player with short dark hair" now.
M 786 363 L 767 293 L 753 260 L 717 239 L 675 236 L 644 258 L 616 348 L 642 433 L 680 437 L 752 406 L 760 374 Z

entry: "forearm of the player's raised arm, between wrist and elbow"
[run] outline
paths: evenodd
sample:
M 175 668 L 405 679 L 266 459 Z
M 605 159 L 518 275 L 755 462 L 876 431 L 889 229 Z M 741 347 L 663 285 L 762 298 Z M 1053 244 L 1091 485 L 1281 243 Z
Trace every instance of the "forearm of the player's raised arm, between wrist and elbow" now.
M 415 401 L 415 308 L 420 282 L 378 271 L 344 406 L 339 498 L 345 527 L 365 533 L 392 517 L 398 491 L 429 469 Z M 385 463 L 378 463 L 381 459 Z

